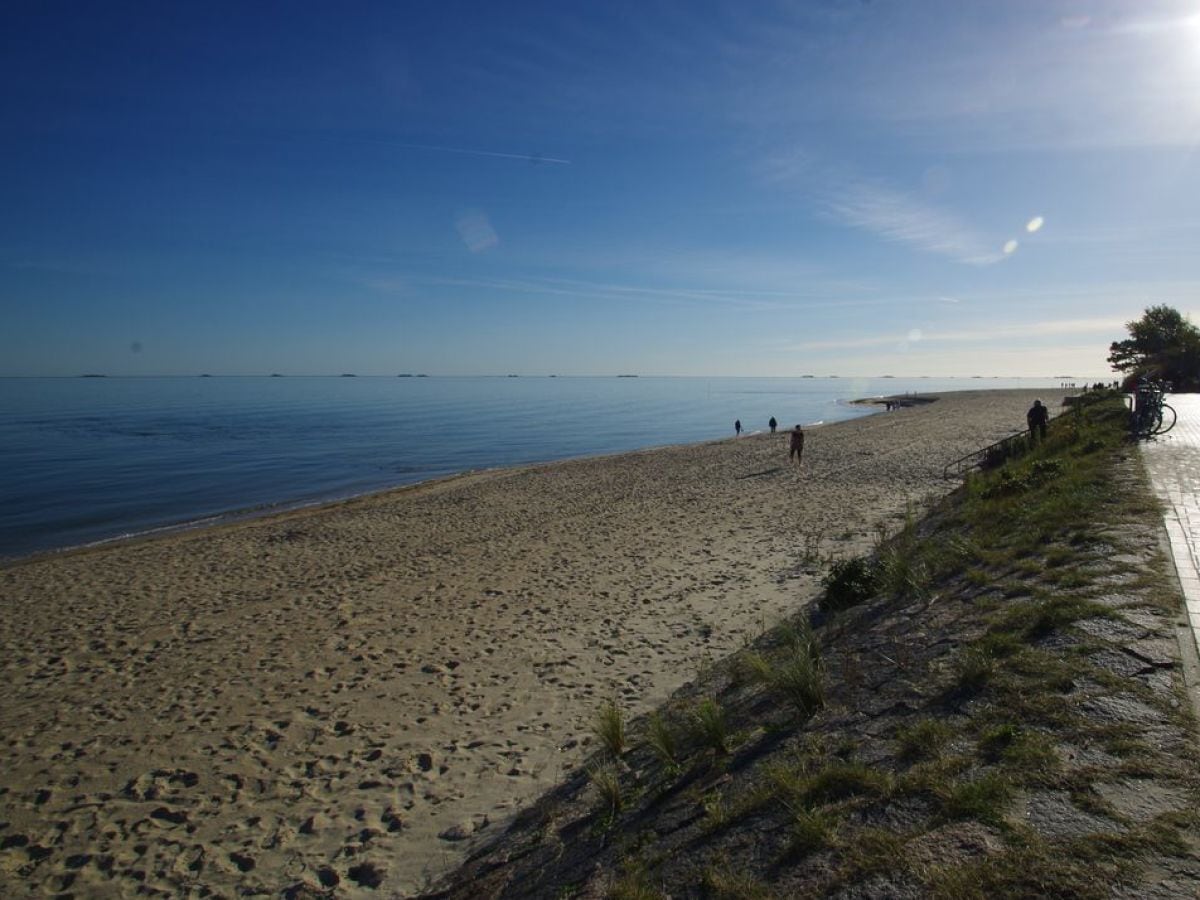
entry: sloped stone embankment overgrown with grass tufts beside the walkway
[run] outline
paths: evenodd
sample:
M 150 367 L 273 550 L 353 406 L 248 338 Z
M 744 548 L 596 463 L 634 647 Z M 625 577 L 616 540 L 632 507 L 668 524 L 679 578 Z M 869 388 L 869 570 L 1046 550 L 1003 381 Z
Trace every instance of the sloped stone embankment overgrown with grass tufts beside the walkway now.
M 1118 401 L 835 564 L 431 896 L 1193 896 L 1181 599 Z M 623 733 L 624 732 L 624 733 Z

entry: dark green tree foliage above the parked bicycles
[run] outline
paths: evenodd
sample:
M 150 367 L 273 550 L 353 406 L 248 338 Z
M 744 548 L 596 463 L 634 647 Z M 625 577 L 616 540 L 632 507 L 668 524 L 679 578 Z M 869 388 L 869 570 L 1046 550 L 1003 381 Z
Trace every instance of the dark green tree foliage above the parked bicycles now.
M 1109 365 L 1126 382 L 1159 378 L 1175 390 L 1200 390 L 1200 329 L 1170 306 L 1151 306 L 1126 323 L 1129 338 L 1109 347 Z

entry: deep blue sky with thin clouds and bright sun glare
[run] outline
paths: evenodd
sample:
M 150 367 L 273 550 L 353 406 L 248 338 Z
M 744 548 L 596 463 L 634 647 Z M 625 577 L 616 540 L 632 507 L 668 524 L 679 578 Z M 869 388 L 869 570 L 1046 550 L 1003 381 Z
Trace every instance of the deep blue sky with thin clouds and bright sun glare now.
M 1194 2 L 505 6 L 10 2 L 0 374 L 1105 377 L 1200 311 Z

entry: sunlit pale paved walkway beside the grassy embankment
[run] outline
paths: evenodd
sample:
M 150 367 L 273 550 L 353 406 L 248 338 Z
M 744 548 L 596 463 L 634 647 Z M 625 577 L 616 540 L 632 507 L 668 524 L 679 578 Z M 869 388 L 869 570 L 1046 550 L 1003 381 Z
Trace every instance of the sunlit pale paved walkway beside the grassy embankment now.
M 1192 635 L 1200 647 L 1200 394 L 1172 394 L 1166 402 L 1178 419 L 1166 434 L 1142 442 L 1142 458 L 1183 586 Z

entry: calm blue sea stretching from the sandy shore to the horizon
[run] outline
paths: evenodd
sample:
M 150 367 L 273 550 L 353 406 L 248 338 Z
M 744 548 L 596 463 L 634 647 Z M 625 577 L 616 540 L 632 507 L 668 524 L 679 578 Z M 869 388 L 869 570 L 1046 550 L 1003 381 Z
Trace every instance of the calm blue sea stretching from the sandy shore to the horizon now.
M 1032 379 L 0 378 L 0 557 Z

